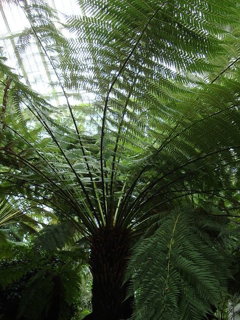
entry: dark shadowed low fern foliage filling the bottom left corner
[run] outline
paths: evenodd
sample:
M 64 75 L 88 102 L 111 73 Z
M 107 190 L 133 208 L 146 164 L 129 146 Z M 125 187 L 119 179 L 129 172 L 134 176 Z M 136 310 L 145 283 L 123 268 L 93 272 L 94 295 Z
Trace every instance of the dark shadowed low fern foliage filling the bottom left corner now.
M 0 261 L 0 315 L 6 320 L 11 312 L 21 320 L 49 319 L 53 314 L 62 320 L 71 318 L 79 308 L 84 264 L 64 255 L 36 256 L 23 249 L 15 259 Z

